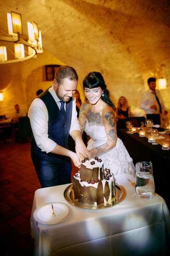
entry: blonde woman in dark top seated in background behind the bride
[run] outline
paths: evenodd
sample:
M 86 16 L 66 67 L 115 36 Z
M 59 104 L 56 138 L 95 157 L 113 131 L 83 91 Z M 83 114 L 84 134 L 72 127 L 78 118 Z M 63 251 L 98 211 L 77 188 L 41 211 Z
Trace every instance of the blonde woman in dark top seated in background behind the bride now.
M 125 119 L 131 116 L 131 108 L 128 105 L 127 99 L 124 96 L 121 96 L 118 100 L 116 117 L 118 119 Z

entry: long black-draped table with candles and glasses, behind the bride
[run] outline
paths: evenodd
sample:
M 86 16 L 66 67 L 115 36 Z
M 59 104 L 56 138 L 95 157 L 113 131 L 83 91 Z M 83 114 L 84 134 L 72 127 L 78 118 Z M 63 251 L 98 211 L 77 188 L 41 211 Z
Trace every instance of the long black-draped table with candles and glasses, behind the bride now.
M 170 195 L 167 189 L 170 186 L 170 150 L 162 150 L 161 145 L 148 143 L 146 137 L 139 137 L 138 133 L 127 134 L 127 129 L 121 129 L 122 140 L 133 158 L 134 165 L 141 161 L 150 161 L 153 164 L 153 176 L 156 193 L 166 201 L 170 210 Z M 166 136 L 166 134 L 160 134 Z

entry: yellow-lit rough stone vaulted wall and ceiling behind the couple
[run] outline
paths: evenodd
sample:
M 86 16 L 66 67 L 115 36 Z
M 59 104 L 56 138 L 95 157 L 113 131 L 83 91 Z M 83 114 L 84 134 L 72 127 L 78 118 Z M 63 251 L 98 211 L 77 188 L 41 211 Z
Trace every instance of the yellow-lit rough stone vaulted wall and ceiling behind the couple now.
M 0 9 L 0 27 L 7 29 L 6 12 L 21 13 L 23 30 L 34 19 L 42 31 L 44 53 L 17 64 L 0 65 L 0 114 L 11 115 L 18 103 L 28 111 L 42 81 L 42 66 L 66 64 L 82 81 L 101 72 L 115 105 L 125 96 L 134 115 L 142 115 L 141 95 L 150 76 L 167 79 L 161 90 L 170 111 L 170 5 L 167 0 L 8 0 Z M 170 112 L 169 112 L 170 113 Z M 168 115 L 168 117 L 170 117 Z

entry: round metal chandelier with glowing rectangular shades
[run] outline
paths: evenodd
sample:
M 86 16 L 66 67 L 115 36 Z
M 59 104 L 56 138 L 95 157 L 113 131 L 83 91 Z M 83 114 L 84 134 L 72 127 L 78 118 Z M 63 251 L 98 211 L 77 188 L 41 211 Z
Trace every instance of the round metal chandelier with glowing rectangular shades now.
M 16 12 L 7 13 L 8 36 L 0 36 L 0 64 L 10 64 L 36 58 L 42 53 L 41 30 L 37 23 L 27 22 L 28 40 L 20 38 L 23 35 L 21 15 Z M 3 43 L 2 42 L 6 42 Z

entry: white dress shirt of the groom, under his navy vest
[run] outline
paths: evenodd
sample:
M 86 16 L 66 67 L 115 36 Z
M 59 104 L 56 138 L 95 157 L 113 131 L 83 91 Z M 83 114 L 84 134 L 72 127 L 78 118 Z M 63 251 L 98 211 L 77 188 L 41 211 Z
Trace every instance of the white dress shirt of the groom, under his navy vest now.
M 57 97 L 53 86 L 50 87 L 48 91 L 51 93 L 60 109 L 61 103 L 59 102 L 60 100 Z M 37 146 L 41 148 L 41 151 L 46 151 L 46 153 L 51 152 L 57 143 L 55 143 L 54 140 L 48 138 L 48 110 L 41 99 L 36 98 L 33 100 L 28 110 L 28 117 L 30 119 L 32 132 Z M 74 130 L 80 131 L 79 121 L 77 119 L 75 97 L 73 97 L 70 133 Z

